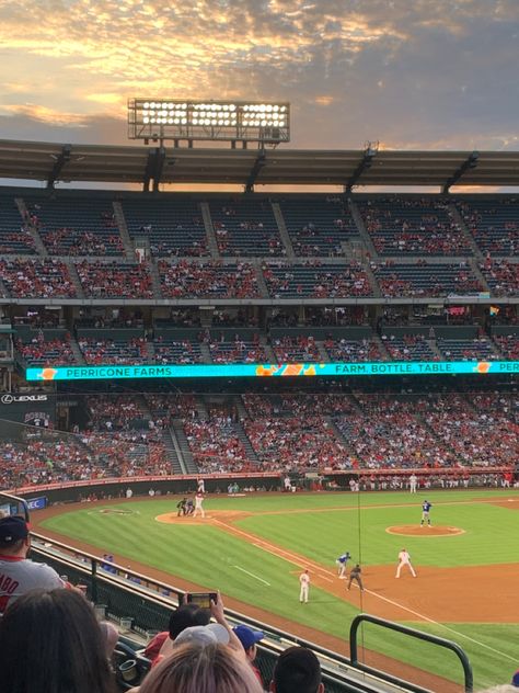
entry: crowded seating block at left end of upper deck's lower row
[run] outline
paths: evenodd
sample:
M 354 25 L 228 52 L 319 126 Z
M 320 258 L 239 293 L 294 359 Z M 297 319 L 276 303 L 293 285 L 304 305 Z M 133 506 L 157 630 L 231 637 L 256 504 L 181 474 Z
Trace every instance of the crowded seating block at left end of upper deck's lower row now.
M 76 288 L 60 260 L 0 260 L 0 277 L 14 298 L 72 298 Z

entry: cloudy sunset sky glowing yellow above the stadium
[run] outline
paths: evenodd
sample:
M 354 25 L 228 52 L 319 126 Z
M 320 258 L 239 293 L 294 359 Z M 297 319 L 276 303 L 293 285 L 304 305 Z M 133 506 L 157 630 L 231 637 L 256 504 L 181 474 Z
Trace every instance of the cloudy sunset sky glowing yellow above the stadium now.
M 518 0 L 0 0 L 0 137 L 128 144 L 129 96 L 287 100 L 292 148 L 517 149 Z

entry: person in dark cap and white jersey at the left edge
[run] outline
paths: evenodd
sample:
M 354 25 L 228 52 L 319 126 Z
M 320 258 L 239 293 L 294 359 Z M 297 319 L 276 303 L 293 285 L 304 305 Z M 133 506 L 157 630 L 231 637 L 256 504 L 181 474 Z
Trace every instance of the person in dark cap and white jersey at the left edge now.
M 30 560 L 30 527 L 24 518 L 0 518 L 0 615 L 31 590 L 70 587 L 49 566 Z

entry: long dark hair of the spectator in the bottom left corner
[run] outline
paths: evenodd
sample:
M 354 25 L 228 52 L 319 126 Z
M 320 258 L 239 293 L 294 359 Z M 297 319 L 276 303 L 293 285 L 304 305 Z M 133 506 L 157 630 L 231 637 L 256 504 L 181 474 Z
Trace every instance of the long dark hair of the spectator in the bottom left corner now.
M 71 590 L 33 590 L 0 620 L 0 693 L 114 693 L 103 633 Z

